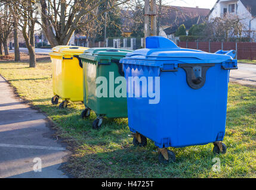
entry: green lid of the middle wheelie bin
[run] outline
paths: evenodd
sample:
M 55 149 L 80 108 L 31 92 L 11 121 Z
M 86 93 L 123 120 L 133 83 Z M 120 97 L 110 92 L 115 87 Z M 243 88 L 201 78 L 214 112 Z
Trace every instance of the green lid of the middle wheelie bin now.
M 109 59 L 124 57 L 127 53 L 132 52 L 127 49 L 116 49 L 116 48 L 107 48 L 107 47 L 95 47 L 85 50 L 84 53 L 79 55 L 79 58 L 89 59 L 92 61 L 97 61 L 100 59 Z

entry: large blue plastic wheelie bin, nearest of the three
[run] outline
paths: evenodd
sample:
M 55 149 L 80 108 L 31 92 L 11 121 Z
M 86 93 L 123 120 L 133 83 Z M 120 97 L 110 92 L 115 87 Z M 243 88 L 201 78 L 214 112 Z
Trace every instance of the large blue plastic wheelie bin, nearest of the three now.
M 167 147 L 214 143 L 226 153 L 230 69 L 238 69 L 235 50 L 207 53 L 183 49 L 160 36 L 146 38 L 146 49 L 121 59 L 127 81 L 128 125 L 134 145 L 147 138 L 159 147 L 159 161 L 175 161 Z

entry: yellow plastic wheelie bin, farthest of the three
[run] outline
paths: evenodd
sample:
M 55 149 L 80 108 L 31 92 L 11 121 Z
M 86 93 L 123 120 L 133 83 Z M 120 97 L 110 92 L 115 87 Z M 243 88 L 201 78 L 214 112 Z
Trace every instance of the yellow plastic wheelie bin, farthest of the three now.
M 61 97 L 63 102 L 59 108 L 67 107 L 69 101 L 83 102 L 83 73 L 82 62 L 79 55 L 88 47 L 79 46 L 55 46 L 49 53 L 53 64 L 53 105 L 58 104 Z

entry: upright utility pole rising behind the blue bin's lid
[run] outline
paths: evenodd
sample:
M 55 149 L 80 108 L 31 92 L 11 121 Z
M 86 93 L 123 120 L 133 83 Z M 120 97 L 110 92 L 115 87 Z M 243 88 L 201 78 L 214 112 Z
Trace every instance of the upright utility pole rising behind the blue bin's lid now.
M 156 36 L 156 0 L 145 1 L 144 36 Z M 145 46 L 146 43 L 144 43 Z

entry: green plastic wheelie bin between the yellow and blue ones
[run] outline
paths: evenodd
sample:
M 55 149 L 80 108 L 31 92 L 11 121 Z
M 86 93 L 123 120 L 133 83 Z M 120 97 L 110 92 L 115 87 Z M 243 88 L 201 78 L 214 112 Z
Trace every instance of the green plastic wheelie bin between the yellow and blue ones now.
M 115 48 L 91 48 L 79 55 L 83 64 L 83 89 L 85 110 L 82 118 L 88 118 L 91 110 L 97 118 L 92 128 L 100 128 L 103 118 L 127 118 L 127 89 L 124 71 L 119 60 L 131 50 Z

